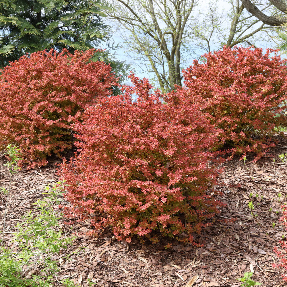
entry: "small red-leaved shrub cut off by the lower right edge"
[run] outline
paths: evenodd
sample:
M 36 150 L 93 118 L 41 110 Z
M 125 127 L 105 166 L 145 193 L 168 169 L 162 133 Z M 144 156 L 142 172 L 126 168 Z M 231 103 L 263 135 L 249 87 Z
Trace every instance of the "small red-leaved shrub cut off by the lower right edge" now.
M 285 230 L 287 231 L 287 205 L 283 204 L 281 205 L 282 210 L 282 216 L 280 217 L 280 224 L 285 227 Z M 284 238 L 284 236 L 283 236 Z M 273 267 L 277 268 L 284 268 L 285 271 L 287 271 L 287 242 L 286 240 L 280 240 L 279 241 L 280 248 L 278 246 L 275 246 L 273 251 L 276 254 L 277 258 L 279 259 L 279 264 L 273 264 Z M 282 279 L 287 282 L 287 275 L 282 274 Z

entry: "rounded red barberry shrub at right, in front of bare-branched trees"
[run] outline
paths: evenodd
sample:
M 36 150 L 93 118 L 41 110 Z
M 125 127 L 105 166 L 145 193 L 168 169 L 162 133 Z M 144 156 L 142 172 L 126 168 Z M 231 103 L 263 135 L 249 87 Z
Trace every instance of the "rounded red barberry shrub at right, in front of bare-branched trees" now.
M 181 92 L 210 114 L 233 153 L 261 156 L 274 146 L 274 128 L 287 124 L 287 67 L 277 51 L 225 46 L 183 71 L 186 88 Z

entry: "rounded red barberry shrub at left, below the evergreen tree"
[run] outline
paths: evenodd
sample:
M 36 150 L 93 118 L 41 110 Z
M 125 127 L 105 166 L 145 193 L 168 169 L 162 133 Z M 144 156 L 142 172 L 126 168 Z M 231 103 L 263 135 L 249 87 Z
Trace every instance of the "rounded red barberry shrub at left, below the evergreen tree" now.
M 21 57 L 1 71 L 0 147 L 17 144 L 23 162 L 46 164 L 73 143 L 71 116 L 85 105 L 110 96 L 116 78 L 110 66 L 90 59 L 96 50 L 40 51 Z

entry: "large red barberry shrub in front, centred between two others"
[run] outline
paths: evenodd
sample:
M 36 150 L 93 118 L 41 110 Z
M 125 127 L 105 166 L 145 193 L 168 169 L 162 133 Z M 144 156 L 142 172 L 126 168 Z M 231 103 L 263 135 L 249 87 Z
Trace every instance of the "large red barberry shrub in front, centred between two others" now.
M 131 80 L 134 87 L 99 99 L 73 125 L 78 153 L 61 171 L 73 205 L 66 216 L 92 219 L 97 230 L 110 226 L 127 242 L 158 242 L 158 231 L 193 242 L 192 232 L 220 205 L 207 192 L 217 174 L 208 151 L 216 133 L 197 104 L 153 94 L 147 79 Z

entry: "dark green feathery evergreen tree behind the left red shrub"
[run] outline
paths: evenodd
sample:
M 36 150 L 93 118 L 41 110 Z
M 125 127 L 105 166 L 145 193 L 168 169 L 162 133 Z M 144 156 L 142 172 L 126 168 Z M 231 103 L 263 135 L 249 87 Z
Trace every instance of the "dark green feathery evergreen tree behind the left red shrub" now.
M 2 66 L 43 49 L 73 53 L 99 46 L 109 38 L 103 8 L 99 0 L 1 0 Z

